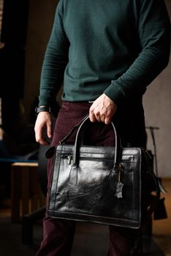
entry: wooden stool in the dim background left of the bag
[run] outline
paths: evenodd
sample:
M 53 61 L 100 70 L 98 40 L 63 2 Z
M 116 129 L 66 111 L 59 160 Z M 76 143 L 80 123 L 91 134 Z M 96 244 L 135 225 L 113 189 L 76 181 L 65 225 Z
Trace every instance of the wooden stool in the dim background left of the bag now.
M 37 162 L 15 162 L 11 165 L 11 220 L 20 222 L 24 214 L 45 205 L 39 186 Z

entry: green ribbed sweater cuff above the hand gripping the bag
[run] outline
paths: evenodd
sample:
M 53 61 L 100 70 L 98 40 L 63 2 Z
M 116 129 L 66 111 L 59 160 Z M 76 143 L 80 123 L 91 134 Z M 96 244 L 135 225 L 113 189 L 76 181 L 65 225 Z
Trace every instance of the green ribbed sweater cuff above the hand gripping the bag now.
M 105 89 L 104 94 L 112 99 L 116 105 L 118 105 L 120 102 L 123 101 L 123 99 L 125 99 L 125 94 L 123 93 L 123 91 L 118 88 L 118 86 L 116 86 L 114 83 L 111 83 L 110 86 Z

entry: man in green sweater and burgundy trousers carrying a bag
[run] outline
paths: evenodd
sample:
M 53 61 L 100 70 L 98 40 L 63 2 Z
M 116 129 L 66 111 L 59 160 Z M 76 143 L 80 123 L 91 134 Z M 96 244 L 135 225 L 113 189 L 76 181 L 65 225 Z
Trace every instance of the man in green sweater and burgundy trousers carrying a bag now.
M 89 143 L 111 146 L 111 120 L 124 146 L 145 146 L 142 95 L 167 66 L 170 20 L 163 0 L 61 0 L 45 53 L 39 94 L 36 140 L 52 138 L 49 107 L 64 81 L 63 104 L 53 131 L 58 143 L 89 113 Z M 70 138 L 68 143 L 73 143 Z M 52 160 L 47 176 L 50 187 Z M 47 194 L 48 200 L 48 194 Z M 37 256 L 67 256 L 75 222 L 44 219 Z M 136 233 L 110 227 L 110 256 L 129 255 Z

